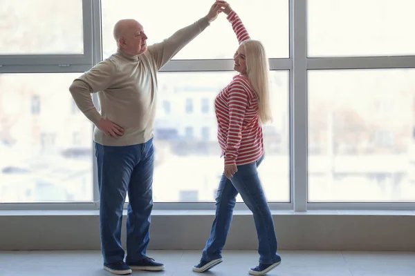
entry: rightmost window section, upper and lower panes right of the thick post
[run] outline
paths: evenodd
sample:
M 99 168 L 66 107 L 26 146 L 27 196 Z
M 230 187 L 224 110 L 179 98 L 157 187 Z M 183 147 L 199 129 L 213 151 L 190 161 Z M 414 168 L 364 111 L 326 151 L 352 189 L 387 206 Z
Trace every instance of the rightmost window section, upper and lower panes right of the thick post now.
M 414 8 L 308 0 L 309 202 L 415 201 Z

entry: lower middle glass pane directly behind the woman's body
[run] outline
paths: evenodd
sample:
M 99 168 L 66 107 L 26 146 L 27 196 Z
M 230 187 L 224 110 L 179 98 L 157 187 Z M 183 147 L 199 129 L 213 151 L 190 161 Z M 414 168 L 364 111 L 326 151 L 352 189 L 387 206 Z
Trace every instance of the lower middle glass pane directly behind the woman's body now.
M 213 103 L 233 75 L 234 72 L 160 73 L 154 129 L 154 201 L 214 201 L 223 159 L 216 138 Z M 288 202 L 288 71 L 272 71 L 271 76 L 274 123 L 264 128 L 266 157 L 259 166 L 259 177 L 268 201 Z M 209 102 L 208 112 L 204 101 Z

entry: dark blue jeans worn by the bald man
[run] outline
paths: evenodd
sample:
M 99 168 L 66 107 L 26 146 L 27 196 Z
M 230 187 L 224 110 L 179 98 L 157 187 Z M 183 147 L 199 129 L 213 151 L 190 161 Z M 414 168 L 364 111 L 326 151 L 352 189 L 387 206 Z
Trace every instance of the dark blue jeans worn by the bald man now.
M 95 143 L 100 190 L 100 234 L 104 264 L 124 260 L 122 210 L 128 193 L 127 262 L 146 256 L 153 208 L 153 139 L 133 146 Z

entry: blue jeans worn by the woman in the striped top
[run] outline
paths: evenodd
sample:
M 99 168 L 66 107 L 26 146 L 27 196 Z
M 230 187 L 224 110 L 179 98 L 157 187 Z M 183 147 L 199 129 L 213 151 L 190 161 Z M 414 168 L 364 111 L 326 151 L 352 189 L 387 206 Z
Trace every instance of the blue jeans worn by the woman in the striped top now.
M 259 241 L 259 262 L 274 264 L 281 260 L 277 253 L 277 237 L 273 217 L 257 172 L 257 167 L 263 159 L 264 156 L 252 164 L 237 166 L 238 172 L 231 179 L 227 179 L 224 174 L 222 175 L 216 195 L 216 215 L 210 238 L 202 253 L 203 261 L 210 262 L 222 257 L 221 253 L 223 246 L 225 246 L 226 237 L 228 237 L 238 193 L 241 194 L 246 206 L 254 215 Z

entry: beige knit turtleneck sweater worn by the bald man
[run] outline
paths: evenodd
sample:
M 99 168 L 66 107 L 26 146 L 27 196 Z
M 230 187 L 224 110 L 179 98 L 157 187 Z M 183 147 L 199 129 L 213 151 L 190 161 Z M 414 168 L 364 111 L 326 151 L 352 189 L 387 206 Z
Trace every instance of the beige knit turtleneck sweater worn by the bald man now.
M 138 56 L 118 50 L 73 81 L 69 88 L 73 99 L 93 124 L 104 118 L 124 128 L 124 135 L 118 138 L 95 128 L 94 141 L 104 146 L 130 146 L 153 137 L 157 72 L 209 25 L 203 17 Z M 91 93 L 95 92 L 101 112 L 93 105 Z

